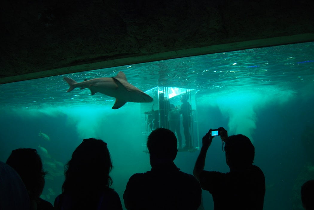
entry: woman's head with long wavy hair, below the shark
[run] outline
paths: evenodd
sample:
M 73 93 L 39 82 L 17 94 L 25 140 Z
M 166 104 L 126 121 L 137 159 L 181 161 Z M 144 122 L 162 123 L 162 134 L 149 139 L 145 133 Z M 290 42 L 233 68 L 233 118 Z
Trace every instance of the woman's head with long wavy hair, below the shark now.
M 100 139 L 84 139 L 66 165 L 62 191 L 73 194 L 98 193 L 111 186 L 111 169 L 107 143 Z

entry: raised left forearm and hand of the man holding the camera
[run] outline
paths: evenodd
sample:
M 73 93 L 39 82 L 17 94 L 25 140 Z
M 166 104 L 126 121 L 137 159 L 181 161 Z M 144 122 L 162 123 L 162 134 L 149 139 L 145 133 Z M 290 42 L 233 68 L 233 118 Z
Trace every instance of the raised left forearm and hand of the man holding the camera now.
M 211 136 L 211 131 L 212 129 L 209 129 L 208 133 L 205 134 L 205 136 L 203 136 L 203 139 L 202 139 L 203 145 L 194 166 L 193 175 L 198 181 L 199 181 L 201 172 L 204 170 L 205 158 L 206 158 L 208 147 L 210 146 L 214 138 L 214 136 Z

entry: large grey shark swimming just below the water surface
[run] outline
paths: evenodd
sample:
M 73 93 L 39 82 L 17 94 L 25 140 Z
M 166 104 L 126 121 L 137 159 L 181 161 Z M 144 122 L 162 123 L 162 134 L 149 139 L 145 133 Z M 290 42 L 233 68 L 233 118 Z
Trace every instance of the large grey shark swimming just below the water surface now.
M 68 77 L 63 78 L 70 86 L 67 92 L 72 91 L 76 87 L 80 87 L 80 90 L 89 88 L 92 95 L 100 92 L 107 96 L 116 98 L 116 102 L 112 109 L 118 109 L 126 102 L 141 103 L 153 101 L 152 97 L 128 83 L 127 77 L 122 71 L 120 71 L 115 77 L 100 77 L 91 80 L 85 79 L 82 82 L 76 82 Z

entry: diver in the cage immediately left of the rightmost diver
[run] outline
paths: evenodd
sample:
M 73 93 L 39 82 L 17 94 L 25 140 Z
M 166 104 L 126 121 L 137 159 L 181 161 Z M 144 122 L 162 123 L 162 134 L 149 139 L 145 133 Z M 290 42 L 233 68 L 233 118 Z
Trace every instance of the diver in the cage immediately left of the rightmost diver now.
M 170 104 L 170 111 L 169 111 L 169 125 L 170 130 L 175 133 L 178 137 L 179 142 L 179 149 L 182 148 L 182 137 L 180 132 L 180 110 L 175 105 Z

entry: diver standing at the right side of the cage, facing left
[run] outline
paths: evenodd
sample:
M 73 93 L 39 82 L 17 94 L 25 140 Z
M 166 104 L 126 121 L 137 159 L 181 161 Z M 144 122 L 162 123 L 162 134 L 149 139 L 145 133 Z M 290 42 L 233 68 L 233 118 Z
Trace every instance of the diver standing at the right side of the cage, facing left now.
M 183 94 L 181 96 L 182 104 L 181 104 L 180 114 L 182 114 L 183 133 L 185 137 L 184 149 L 191 149 L 192 142 L 191 142 L 190 126 L 192 122 L 192 118 L 191 118 L 192 108 L 191 108 L 191 104 L 187 101 L 187 99 L 188 99 L 187 94 Z

